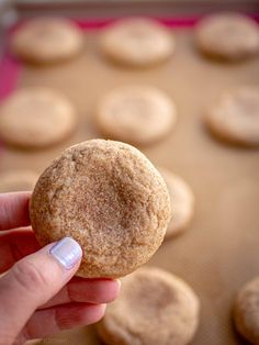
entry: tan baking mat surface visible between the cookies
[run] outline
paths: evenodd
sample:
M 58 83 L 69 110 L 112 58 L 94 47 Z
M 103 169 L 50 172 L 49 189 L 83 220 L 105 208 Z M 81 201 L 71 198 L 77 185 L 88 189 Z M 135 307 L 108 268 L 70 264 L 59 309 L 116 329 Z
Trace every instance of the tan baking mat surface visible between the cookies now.
M 190 183 L 196 207 L 188 232 L 165 243 L 150 265 L 179 275 L 201 298 L 201 324 L 192 344 L 244 344 L 233 332 L 230 309 L 236 290 L 259 274 L 259 151 L 218 143 L 201 120 L 225 87 L 259 86 L 259 59 L 236 65 L 213 63 L 195 52 L 191 31 L 174 33 L 174 56 L 150 69 L 106 63 L 92 33 L 86 35 L 86 49 L 77 59 L 60 66 L 24 68 L 19 86 L 60 89 L 77 105 L 80 125 L 75 136 L 53 149 L 7 149 L 1 169 L 31 167 L 41 171 L 66 146 L 100 136 L 91 118 L 99 97 L 113 87 L 148 84 L 168 92 L 178 107 L 177 125 L 167 138 L 143 151 L 154 164 L 170 168 Z M 88 332 L 72 331 L 42 344 L 100 344 Z

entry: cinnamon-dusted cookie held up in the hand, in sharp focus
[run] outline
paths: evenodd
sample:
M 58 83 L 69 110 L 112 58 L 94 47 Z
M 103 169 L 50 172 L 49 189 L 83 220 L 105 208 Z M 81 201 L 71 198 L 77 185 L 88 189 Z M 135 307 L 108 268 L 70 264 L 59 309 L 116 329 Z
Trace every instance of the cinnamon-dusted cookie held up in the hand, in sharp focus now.
M 66 149 L 42 174 L 30 214 L 40 244 L 79 242 L 78 276 L 116 278 L 154 255 L 171 210 L 162 177 L 139 151 L 92 140 Z

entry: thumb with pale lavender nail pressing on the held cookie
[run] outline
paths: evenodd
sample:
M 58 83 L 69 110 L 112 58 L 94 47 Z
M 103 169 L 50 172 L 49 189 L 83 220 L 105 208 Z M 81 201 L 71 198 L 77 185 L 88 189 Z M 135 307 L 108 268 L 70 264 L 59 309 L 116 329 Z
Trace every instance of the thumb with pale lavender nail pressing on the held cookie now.
M 24 257 L 0 279 L 0 315 L 4 315 L 0 334 L 7 334 L 8 343 L 13 343 L 33 312 L 71 279 L 81 256 L 79 244 L 65 237 Z

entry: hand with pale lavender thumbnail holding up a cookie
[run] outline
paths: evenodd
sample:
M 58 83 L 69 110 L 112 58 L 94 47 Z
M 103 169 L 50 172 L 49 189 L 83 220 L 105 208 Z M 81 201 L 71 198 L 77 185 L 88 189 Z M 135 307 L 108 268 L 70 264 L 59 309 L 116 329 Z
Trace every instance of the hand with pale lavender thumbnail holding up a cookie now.
M 1 345 L 94 323 L 120 290 L 117 280 L 72 278 L 81 260 L 72 238 L 40 248 L 24 227 L 30 196 L 0 194 L 0 274 L 10 269 L 0 278 Z

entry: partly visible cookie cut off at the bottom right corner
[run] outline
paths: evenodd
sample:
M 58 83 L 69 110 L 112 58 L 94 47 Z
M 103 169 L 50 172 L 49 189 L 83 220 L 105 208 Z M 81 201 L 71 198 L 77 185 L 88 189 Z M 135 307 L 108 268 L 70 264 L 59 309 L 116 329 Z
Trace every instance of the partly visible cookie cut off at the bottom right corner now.
M 247 282 L 234 305 L 237 331 L 251 344 L 259 344 L 259 277 Z

